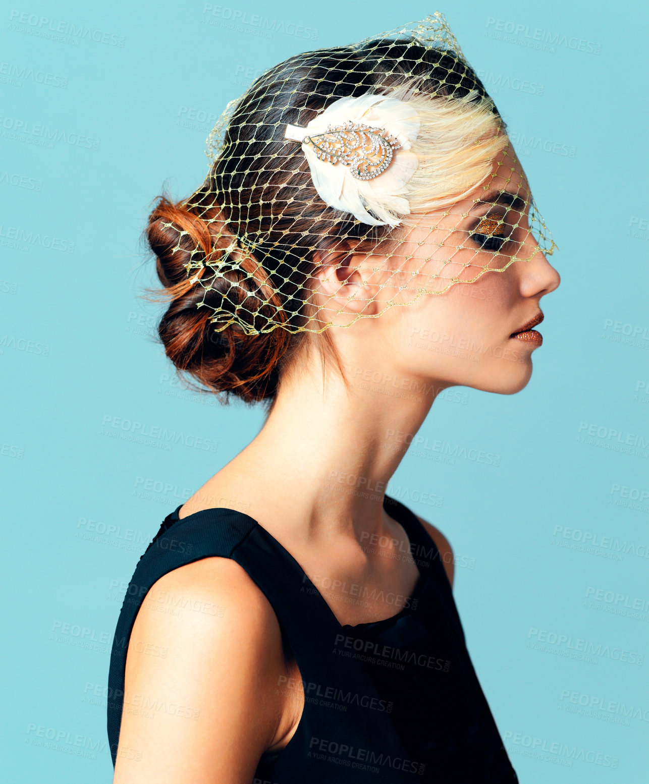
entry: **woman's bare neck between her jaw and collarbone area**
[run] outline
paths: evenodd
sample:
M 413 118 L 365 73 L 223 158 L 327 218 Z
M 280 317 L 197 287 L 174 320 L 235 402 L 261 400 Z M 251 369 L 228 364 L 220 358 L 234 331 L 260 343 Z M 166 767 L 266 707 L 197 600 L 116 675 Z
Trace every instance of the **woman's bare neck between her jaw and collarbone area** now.
M 323 380 L 320 358 L 294 364 L 262 430 L 215 478 L 245 487 L 256 514 L 281 515 L 306 536 L 383 530 L 390 477 L 448 384 L 363 364 L 344 363 L 349 390 L 332 369 Z

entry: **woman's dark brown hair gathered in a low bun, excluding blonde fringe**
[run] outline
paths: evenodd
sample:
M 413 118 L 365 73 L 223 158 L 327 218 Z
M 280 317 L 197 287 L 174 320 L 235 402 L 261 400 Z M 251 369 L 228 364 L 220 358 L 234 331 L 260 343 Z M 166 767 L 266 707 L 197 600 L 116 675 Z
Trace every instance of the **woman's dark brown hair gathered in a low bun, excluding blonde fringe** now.
M 239 100 L 205 183 L 187 200 L 158 199 L 146 237 L 171 299 L 158 335 L 179 372 L 222 393 L 223 401 L 234 394 L 272 403 L 282 371 L 308 342 L 344 379 L 328 330 L 295 332 L 309 313 L 304 284 L 315 268 L 314 251 L 352 243 L 355 252 L 386 252 L 393 230 L 324 204 L 299 144 L 287 145 L 283 129 L 306 125 L 343 96 L 379 92 L 413 76 L 420 92 L 462 97 L 473 89 L 476 100 L 487 96 L 465 63 L 412 39 L 300 54 L 266 71 Z M 266 166 L 269 161 L 275 164 Z M 187 272 L 190 260 L 204 263 L 198 282 Z M 223 274 L 229 262 L 232 270 Z M 198 307 L 202 302 L 208 307 Z M 215 311 L 227 316 L 235 310 L 250 329 L 271 321 L 287 328 L 247 335 L 234 323 L 217 332 Z

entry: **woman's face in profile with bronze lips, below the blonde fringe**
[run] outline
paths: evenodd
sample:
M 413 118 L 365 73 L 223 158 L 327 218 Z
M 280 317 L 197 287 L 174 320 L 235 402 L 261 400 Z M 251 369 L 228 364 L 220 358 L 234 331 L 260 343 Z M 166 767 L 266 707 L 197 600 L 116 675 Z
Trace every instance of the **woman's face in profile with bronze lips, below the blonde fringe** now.
M 336 343 L 343 350 L 358 343 L 365 357 L 372 352 L 382 358 L 385 372 L 434 379 L 440 388 L 460 385 L 501 394 L 521 390 L 531 376 L 532 351 L 542 338 L 538 332 L 513 333 L 540 316 L 539 300 L 560 283 L 529 230 L 530 201 L 520 162 L 506 148 L 495 159 L 491 178 L 466 199 L 447 210 L 414 216 L 415 225 L 404 227 L 405 241 L 385 260 L 388 269 L 398 268 L 393 281 L 364 289 L 375 296 L 378 310 L 395 297 L 408 304 L 388 307 L 380 318 L 360 318 L 349 329 L 332 330 L 339 333 Z M 370 264 L 377 260 L 368 257 Z M 364 281 L 372 281 L 369 269 L 365 274 L 361 270 Z M 443 291 L 453 277 L 458 282 L 446 291 L 430 293 Z M 462 282 L 473 278 L 477 280 Z M 400 292 L 396 281 L 408 285 Z

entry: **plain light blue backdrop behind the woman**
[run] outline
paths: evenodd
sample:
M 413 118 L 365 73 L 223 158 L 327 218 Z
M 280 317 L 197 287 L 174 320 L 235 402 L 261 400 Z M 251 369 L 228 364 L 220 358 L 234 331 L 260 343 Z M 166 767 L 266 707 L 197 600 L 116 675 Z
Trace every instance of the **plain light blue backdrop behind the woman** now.
M 201 2 L 16 0 L 0 16 L 5 780 L 111 781 L 125 583 L 162 518 L 263 423 L 261 408 L 184 390 L 154 343 L 150 201 L 165 180 L 177 197 L 202 181 L 214 117 L 259 71 L 439 8 L 520 134 L 562 285 L 542 302 L 528 387 L 451 390 L 422 426 L 499 466 L 407 455 L 389 492 L 451 541 L 467 643 L 521 782 L 646 782 L 646 6 L 231 2 L 214 16 Z M 230 29 L 234 12 L 298 34 Z M 63 137 L 46 144 L 35 125 Z M 125 440 L 118 418 L 216 451 Z

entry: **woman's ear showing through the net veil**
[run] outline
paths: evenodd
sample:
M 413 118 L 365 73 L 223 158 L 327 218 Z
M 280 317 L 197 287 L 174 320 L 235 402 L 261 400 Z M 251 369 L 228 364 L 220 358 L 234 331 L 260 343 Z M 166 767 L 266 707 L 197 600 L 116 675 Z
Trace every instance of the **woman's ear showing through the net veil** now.
M 367 254 L 354 253 L 349 243 L 338 241 L 335 248 L 317 249 L 313 260 L 316 268 L 312 277 L 317 281 L 314 292 L 328 303 L 324 307 L 364 315 L 378 312 L 373 299 L 377 287 L 364 279 Z

